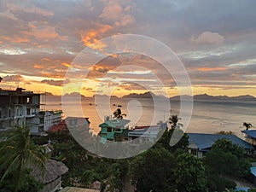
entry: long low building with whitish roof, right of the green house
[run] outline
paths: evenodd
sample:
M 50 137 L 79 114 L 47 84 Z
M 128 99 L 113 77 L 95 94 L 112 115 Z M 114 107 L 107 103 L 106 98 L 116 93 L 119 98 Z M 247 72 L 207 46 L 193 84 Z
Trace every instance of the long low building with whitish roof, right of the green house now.
M 136 126 L 129 131 L 128 140 L 134 140 L 134 144 L 143 142 L 154 143 L 159 131 L 166 131 L 166 123 L 161 125 Z

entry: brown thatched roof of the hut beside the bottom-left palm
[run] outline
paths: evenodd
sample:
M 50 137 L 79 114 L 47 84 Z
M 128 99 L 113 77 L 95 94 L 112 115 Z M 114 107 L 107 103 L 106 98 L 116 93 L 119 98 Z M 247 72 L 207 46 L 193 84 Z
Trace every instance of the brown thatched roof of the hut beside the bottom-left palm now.
M 45 165 L 45 176 L 43 183 L 50 183 L 55 181 L 56 178 L 61 177 L 68 171 L 67 166 L 61 161 L 48 160 Z M 37 168 L 32 170 L 32 176 L 42 180 L 41 172 Z

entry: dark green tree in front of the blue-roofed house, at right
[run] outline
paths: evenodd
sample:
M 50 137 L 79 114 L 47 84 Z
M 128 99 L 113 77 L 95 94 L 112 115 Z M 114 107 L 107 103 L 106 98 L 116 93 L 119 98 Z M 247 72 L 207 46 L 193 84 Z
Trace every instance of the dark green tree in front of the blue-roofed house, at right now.
M 209 191 L 235 189 L 236 183 L 228 177 L 246 177 L 251 166 L 244 148 L 230 140 L 219 139 L 212 145 L 204 160 Z

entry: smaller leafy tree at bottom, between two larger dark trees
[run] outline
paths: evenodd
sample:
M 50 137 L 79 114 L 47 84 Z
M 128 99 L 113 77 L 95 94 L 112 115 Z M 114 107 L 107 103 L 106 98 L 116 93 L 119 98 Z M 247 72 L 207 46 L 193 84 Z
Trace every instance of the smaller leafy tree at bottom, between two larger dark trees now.
M 206 191 L 207 177 L 201 160 L 192 154 L 177 156 L 177 169 L 174 172 L 177 191 L 200 192 Z

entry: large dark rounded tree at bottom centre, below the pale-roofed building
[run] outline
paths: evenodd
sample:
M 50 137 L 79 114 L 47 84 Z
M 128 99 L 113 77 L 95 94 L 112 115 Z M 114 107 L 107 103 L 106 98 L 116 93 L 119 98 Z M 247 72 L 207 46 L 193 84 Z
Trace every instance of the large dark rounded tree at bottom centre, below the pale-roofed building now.
M 137 191 L 175 191 L 173 171 L 176 167 L 173 155 L 166 148 L 151 148 L 131 162 L 132 183 Z

